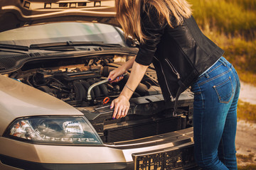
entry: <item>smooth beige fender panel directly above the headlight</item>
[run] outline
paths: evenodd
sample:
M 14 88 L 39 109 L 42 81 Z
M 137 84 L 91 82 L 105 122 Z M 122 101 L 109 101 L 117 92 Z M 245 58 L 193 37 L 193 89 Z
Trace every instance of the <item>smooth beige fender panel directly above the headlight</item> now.
M 67 103 L 0 74 L 0 136 L 16 118 L 31 115 L 83 115 Z

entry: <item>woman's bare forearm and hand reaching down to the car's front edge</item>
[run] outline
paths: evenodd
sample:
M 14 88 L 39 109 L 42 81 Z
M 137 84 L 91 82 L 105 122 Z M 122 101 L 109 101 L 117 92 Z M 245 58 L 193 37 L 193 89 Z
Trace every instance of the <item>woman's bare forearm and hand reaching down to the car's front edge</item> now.
M 114 112 L 112 118 L 123 118 L 127 115 L 129 111 L 129 98 L 131 98 L 134 90 L 139 85 L 139 82 L 142 81 L 146 69 L 149 66 L 145 66 L 134 62 L 132 65 L 132 72 L 129 76 L 127 84 L 125 84 L 124 89 L 122 90 L 121 94 L 118 98 L 115 98 L 112 101 L 110 108 L 114 107 Z

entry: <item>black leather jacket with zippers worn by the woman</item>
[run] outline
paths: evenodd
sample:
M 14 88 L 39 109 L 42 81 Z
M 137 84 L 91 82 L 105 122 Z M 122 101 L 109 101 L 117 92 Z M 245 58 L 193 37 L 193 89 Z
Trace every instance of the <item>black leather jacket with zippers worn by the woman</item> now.
M 160 24 L 154 8 L 149 15 L 142 12 L 142 31 L 148 37 L 140 44 L 135 61 L 149 65 L 153 62 L 165 101 L 174 101 L 224 53 L 206 38 L 193 16 L 174 28 Z

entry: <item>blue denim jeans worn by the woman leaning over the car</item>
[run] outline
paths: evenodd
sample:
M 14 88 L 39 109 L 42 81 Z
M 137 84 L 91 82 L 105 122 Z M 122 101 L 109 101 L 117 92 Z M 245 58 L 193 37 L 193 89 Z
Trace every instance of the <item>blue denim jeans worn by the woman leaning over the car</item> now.
M 194 93 L 193 126 L 195 159 L 203 169 L 238 169 L 235 157 L 238 74 L 221 57 L 198 77 Z

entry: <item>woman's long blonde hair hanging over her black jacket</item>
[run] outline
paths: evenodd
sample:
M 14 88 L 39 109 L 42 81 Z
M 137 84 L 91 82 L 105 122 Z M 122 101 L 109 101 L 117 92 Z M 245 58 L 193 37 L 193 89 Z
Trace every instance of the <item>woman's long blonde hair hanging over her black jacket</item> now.
M 184 18 L 191 16 L 191 5 L 186 0 L 115 0 L 117 21 L 122 26 L 124 34 L 137 38 L 140 42 L 147 39 L 142 33 L 141 10 L 144 5 L 149 4 L 156 8 L 159 15 L 159 22 L 167 21 L 173 27 L 171 17 L 176 18 L 176 24 L 183 23 Z

